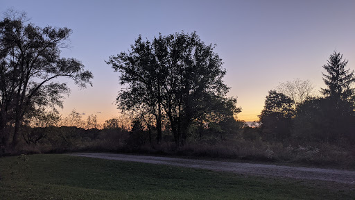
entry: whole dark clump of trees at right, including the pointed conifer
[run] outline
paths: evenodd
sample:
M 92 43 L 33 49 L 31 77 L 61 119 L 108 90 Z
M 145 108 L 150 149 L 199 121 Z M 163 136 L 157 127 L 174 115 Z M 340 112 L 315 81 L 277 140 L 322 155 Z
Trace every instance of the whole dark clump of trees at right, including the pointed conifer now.
M 312 95 L 309 81 L 295 80 L 270 90 L 259 115 L 267 140 L 355 144 L 354 70 L 334 51 L 322 73 L 327 88 Z

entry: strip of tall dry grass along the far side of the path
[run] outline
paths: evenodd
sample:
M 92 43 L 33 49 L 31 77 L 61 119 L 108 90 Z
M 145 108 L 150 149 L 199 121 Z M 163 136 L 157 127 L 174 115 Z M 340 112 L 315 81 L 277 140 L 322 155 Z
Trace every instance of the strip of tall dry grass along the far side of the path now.
M 119 153 L 144 153 L 166 156 L 187 156 L 194 158 L 223 158 L 238 160 L 256 160 L 273 163 L 295 163 L 317 167 L 335 167 L 355 169 L 354 148 L 339 147 L 335 144 L 283 144 L 266 142 L 261 138 L 245 140 L 236 135 L 227 140 L 216 138 L 190 140 L 181 147 L 174 142 L 132 146 L 128 132 L 103 132 L 94 139 L 87 136 L 72 138 L 70 143 L 56 140 L 42 140 L 37 144 L 22 142 L 19 147 L 1 147 L 1 155 L 21 153 L 63 153 L 70 151 L 108 151 Z M 55 141 L 55 142 L 53 142 Z M 132 142 L 132 141 L 131 141 Z M 130 144 L 130 145 L 129 145 Z

